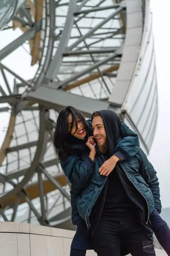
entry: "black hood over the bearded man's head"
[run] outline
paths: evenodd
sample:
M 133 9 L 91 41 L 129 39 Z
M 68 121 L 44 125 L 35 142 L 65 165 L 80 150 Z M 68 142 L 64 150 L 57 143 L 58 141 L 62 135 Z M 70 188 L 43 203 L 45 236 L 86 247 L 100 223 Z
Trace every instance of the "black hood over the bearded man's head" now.
M 109 145 L 109 155 L 111 156 L 115 153 L 117 142 L 120 139 L 121 120 L 118 114 L 111 110 L 100 110 L 97 113 L 103 118 Z

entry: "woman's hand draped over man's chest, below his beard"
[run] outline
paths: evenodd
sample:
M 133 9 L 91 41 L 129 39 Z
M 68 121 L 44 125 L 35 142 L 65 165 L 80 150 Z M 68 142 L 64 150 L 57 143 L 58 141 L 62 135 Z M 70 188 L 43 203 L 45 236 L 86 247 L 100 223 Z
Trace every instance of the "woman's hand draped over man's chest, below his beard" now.
M 106 160 L 105 163 L 103 163 L 103 165 L 99 168 L 100 175 L 108 176 L 115 168 L 118 161 L 120 161 L 120 158 L 118 158 L 116 155 L 112 155 L 112 157 Z

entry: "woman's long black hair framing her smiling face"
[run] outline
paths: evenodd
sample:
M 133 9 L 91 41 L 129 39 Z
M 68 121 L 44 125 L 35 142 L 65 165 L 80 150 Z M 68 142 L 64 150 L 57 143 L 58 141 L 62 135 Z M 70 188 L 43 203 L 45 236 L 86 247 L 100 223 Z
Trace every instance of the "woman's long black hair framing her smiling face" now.
M 70 131 L 68 131 L 67 117 L 70 114 L 72 117 L 72 121 Z M 62 159 L 65 156 L 71 154 L 71 145 L 73 143 L 73 135 L 71 135 L 71 131 L 73 129 L 74 121 L 76 122 L 76 130 L 78 128 L 77 118 L 82 121 L 85 131 L 88 132 L 88 130 L 90 129 L 89 124 L 83 114 L 76 108 L 72 106 L 67 106 L 59 113 L 53 134 L 53 143 L 59 159 Z

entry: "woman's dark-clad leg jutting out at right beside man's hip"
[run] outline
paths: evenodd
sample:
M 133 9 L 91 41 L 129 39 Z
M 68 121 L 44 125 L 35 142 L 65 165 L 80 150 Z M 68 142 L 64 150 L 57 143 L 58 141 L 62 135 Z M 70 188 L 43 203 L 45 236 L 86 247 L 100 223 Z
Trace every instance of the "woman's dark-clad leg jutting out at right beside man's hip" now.
M 161 218 L 156 210 L 153 210 L 150 216 L 150 222 L 159 244 L 164 248 L 168 256 L 170 256 L 170 229 L 167 226 L 167 223 Z

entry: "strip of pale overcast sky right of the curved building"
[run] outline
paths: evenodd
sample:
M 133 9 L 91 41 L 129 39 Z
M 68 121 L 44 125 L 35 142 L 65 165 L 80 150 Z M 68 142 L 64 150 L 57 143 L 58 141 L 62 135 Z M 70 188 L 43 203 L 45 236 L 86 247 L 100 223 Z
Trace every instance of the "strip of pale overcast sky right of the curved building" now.
M 163 207 L 170 207 L 170 1 L 151 0 L 158 81 L 158 124 L 149 160 L 155 167 Z

